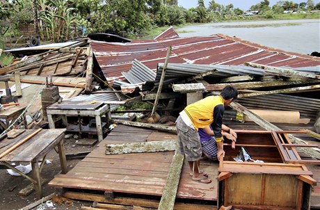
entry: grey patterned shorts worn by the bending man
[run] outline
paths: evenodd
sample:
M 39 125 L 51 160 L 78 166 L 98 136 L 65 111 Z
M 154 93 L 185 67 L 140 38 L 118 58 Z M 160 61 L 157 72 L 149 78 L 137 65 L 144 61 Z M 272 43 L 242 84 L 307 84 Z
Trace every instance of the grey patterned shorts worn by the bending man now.
M 177 118 L 178 150 L 187 161 L 199 161 L 202 155 L 200 136 L 196 129 L 187 126 L 182 118 Z

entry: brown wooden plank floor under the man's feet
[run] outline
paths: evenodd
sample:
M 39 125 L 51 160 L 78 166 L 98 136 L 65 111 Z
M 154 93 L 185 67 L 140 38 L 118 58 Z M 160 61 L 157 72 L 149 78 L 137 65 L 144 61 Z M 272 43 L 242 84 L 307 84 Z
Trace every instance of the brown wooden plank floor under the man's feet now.
M 174 152 L 106 155 L 105 149 L 108 144 L 175 139 L 177 139 L 175 134 L 118 125 L 85 159 L 66 175 L 57 175 L 49 182 L 49 185 L 64 188 L 67 190 L 65 193 L 67 197 L 79 200 L 106 202 L 104 192 L 140 198 L 148 195 L 147 197 L 160 199 Z M 179 181 L 177 200 L 200 202 L 203 204 L 203 209 L 216 208 L 218 163 L 202 161 L 201 167 L 208 172 L 212 180 L 211 184 L 192 181 L 189 166 L 185 161 Z M 316 170 L 314 179 L 317 180 L 318 186 L 312 189 L 311 203 L 312 207 L 318 208 L 320 207 L 317 201 L 320 197 L 319 166 L 312 165 L 310 170 Z M 74 193 L 79 193 L 79 189 L 82 194 L 75 195 Z M 118 204 L 114 200 L 111 203 Z

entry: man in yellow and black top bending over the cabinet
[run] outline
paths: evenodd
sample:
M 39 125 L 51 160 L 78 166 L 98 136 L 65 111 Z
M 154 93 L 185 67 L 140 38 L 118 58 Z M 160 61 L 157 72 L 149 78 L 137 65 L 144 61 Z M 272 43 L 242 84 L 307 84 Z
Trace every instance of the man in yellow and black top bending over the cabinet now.
M 211 124 L 218 147 L 217 156 L 225 156 L 221 141 L 223 112 L 225 111 L 225 106 L 229 106 L 232 100 L 237 99 L 237 97 L 237 88 L 226 86 L 220 95 L 209 96 L 189 104 L 179 114 L 177 118 L 179 152 L 184 154 L 189 163 L 193 181 L 205 184 L 211 183 L 211 179 L 208 179 L 205 174 L 200 172 L 199 165 L 202 148 L 198 129 L 208 127 Z

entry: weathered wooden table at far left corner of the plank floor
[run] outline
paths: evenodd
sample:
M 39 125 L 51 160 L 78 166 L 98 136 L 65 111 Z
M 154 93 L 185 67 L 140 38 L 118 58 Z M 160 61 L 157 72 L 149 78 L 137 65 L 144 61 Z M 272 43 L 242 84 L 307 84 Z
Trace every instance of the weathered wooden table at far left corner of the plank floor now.
M 107 120 L 110 120 L 110 105 L 104 104 L 102 102 L 97 102 L 91 104 L 90 102 L 78 102 L 78 101 L 65 101 L 61 104 L 52 104 L 47 107 L 47 115 L 49 121 L 49 127 L 51 129 L 55 128 L 54 124 L 54 115 L 60 115 L 63 120 L 63 124 L 67 126 L 67 116 L 93 116 L 95 117 L 95 124 L 97 127 L 97 136 L 98 140 L 103 140 L 103 131 L 102 131 L 102 120 L 103 115 L 106 116 Z M 81 123 L 79 119 L 79 132 L 81 134 Z

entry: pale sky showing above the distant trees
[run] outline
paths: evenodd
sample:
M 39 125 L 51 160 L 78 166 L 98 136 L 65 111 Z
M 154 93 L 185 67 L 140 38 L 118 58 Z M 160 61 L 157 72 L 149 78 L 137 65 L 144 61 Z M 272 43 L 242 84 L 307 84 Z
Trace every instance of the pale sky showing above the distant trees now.
M 205 0 L 205 6 L 209 6 L 209 2 L 211 0 Z M 224 6 L 227 6 L 228 4 L 232 3 L 234 8 L 240 8 L 241 10 L 248 10 L 250 6 L 253 6 L 262 0 L 215 0 L 216 3 L 223 4 Z M 275 3 L 277 3 L 280 0 L 269 0 L 270 4 L 269 6 L 273 6 Z M 301 2 L 307 2 L 307 0 L 290 0 L 294 1 L 294 3 L 301 3 Z M 314 4 L 319 3 L 320 0 L 314 0 Z M 198 0 L 178 0 L 178 6 L 182 6 L 186 9 L 197 7 L 198 6 Z

